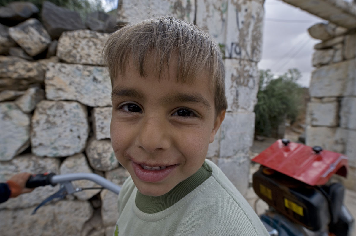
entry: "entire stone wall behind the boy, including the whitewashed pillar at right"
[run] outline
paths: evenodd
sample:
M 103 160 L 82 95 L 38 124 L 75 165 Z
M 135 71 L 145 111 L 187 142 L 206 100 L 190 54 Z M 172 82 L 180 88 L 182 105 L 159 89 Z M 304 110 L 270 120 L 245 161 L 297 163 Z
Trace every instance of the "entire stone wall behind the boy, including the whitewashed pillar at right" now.
M 12 20 L 0 15 L 0 23 L 12 23 L 10 27 L 0 24 L 0 181 L 23 171 L 94 172 L 122 184 L 128 173 L 119 166 L 110 143 L 111 87 L 101 66 L 102 43 L 116 24 L 172 15 L 209 31 L 225 51 L 229 108 L 209 146 L 208 158 L 245 194 L 255 124 L 263 1 L 121 2 L 118 17 L 97 12 L 85 24 L 80 18 L 73 20 L 77 13 L 48 2 L 40 13 L 42 22 L 33 6 L 27 6 L 33 10 L 20 22 L 16 22 L 16 12 L 20 14 L 16 4 L 7 6 L 15 12 Z M 75 185 L 95 186 L 88 181 Z M 30 215 L 57 190 L 58 186 L 39 187 L 0 204 L 2 232 L 112 235 L 117 195 L 108 190 L 76 193 Z

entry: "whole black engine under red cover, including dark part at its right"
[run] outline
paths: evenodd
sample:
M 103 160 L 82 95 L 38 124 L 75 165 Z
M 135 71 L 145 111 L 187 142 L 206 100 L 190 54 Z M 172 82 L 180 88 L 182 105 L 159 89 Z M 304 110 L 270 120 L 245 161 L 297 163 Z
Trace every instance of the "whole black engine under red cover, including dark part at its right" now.
M 353 221 L 343 205 L 341 183 L 310 186 L 265 166 L 253 174 L 253 189 L 268 205 L 296 224 L 336 236 L 350 233 Z

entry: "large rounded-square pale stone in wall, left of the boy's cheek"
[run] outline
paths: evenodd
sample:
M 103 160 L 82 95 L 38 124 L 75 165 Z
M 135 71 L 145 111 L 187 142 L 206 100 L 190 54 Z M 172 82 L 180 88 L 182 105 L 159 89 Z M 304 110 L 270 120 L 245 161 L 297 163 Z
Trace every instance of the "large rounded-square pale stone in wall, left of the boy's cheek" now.
M 32 153 L 66 157 L 82 152 L 89 134 L 87 116 L 87 108 L 75 101 L 40 101 L 32 116 Z

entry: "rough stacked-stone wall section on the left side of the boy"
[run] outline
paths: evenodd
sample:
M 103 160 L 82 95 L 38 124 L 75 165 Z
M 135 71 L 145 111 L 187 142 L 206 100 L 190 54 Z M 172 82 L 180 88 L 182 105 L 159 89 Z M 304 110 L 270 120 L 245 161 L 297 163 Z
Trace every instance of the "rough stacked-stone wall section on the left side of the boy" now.
M 15 5 L 24 4 L 35 7 Z M 110 17 L 98 13 L 104 28 L 96 32 L 85 29 L 78 13 L 49 2 L 43 5 L 42 22 L 29 16 L 1 21 L 3 10 L 0 22 L 15 23 L 0 24 L 0 182 L 20 172 L 85 172 L 122 185 L 129 174 L 110 143 L 111 85 L 101 57 Z M 58 13 L 64 23 L 53 15 Z M 99 187 L 87 180 L 73 186 Z M 3 234 L 113 235 L 117 194 L 108 190 L 78 192 L 31 215 L 58 190 L 58 185 L 38 187 L 0 204 Z

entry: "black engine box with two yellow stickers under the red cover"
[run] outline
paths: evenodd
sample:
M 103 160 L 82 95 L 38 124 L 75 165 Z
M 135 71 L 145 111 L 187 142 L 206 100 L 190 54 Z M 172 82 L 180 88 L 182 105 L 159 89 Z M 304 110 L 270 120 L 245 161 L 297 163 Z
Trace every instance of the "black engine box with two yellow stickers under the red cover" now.
M 309 230 L 330 223 L 328 199 L 316 188 L 261 166 L 253 174 L 253 190 L 277 212 Z

